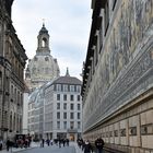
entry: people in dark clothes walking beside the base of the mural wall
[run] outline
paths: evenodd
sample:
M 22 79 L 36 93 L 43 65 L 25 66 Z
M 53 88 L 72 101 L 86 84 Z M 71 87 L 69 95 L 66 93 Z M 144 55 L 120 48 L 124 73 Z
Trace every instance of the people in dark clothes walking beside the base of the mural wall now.
M 104 144 L 105 143 L 104 143 L 104 140 L 102 138 L 97 138 L 95 140 L 96 153 L 103 153 Z M 92 144 L 90 143 L 89 140 L 83 141 L 83 139 L 78 139 L 78 145 L 79 145 L 79 148 L 82 149 L 82 151 L 84 153 L 91 153 L 91 152 L 93 152 L 93 146 L 92 146 Z

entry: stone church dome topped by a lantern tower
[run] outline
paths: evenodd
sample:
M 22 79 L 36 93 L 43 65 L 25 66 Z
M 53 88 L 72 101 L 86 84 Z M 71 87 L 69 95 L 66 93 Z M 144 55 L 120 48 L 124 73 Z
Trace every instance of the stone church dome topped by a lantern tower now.
M 37 50 L 33 59 L 28 60 L 25 71 L 25 82 L 30 90 L 34 90 L 59 76 L 60 70 L 57 59 L 52 58 L 49 49 L 49 34 L 43 24 L 37 36 Z

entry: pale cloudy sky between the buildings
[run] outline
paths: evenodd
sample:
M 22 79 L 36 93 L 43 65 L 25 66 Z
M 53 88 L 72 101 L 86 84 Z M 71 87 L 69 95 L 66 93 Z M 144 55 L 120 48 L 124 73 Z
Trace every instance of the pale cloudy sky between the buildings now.
M 43 19 L 50 35 L 51 55 L 58 60 L 61 75 L 69 67 L 70 75 L 81 79 L 91 30 L 91 0 L 15 0 L 13 25 L 30 59 L 36 54 Z

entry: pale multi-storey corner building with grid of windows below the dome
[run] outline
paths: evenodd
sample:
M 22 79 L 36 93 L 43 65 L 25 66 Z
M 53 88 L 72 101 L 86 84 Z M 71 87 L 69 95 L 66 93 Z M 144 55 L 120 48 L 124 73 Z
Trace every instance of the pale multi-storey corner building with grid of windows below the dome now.
M 59 76 L 33 92 L 28 103 L 28 129 L 35 139 L 75 141 L 82 134 L 82 82 Z

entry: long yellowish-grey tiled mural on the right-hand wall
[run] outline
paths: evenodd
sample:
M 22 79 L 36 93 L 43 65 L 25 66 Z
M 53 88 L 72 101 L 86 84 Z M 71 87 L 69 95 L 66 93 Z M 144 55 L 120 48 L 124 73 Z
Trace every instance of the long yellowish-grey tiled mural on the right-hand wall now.
M 86 97 L 85 128 L 130 103 L 153 82 L 153 1 L 122 0 L 110 25 Z

